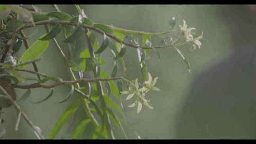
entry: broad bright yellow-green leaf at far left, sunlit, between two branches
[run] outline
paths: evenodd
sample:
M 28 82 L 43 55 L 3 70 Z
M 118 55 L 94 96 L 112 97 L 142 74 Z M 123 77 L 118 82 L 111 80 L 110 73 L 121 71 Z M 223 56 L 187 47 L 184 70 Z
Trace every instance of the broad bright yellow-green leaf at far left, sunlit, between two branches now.
M 45 35 L 43 35 L 45 36 Z M 43 37 L 41 36 L 41 37 Z M 41 54 L 43 54 L 46 50 L 46 48 L 49 45 L 49 41 L 41 41 L 41 40 L 37 40 L 33 45 L 31 45 L 21 56 L 20 58 L 20 62 L 25 62 L 27 60 L 34 60 L 37 59 Z M 23 69 L 27 66 L 27 64 L 25 65 L 21 65 L 18 68 L 19 69 Z

